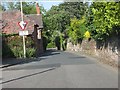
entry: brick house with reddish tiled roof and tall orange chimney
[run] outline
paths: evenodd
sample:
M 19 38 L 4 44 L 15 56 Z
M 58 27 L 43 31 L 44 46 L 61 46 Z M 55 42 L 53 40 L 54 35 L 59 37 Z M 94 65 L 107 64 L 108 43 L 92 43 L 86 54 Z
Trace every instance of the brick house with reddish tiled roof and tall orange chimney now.
M 38 5 L 36 4 L 37 14 L 23 15 L 23 20 L 28 22 L 25 30 L 28 30 L 29 36 L 33 37 L 36 56 L 43 53 L 43 42 L 42 42 L 42 15 Z M 2 19 L 0 20 L 0 31 L 5 34 L 19 34 L 21 30 L 18 22 L 21 21 L 21 12 L 19 10 L 9 10 L 2 12 Z M 2 24 L 2 25 L 1 25 Z

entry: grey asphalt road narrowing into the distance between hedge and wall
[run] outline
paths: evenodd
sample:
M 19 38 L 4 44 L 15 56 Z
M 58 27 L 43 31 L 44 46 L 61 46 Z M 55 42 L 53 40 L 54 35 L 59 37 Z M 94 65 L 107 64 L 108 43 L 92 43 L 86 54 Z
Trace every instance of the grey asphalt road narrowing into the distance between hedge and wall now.
M 48 51 L 3 69 L 3 88 L 118 88 L 118 73 L 82 55 Z

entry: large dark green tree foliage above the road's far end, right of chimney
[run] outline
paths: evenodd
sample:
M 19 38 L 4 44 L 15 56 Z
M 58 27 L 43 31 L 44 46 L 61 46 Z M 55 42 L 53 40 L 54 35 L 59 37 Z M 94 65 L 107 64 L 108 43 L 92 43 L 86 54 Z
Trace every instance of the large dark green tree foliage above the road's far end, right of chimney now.
M 59 6 L 52 6 L 49 11 L 43 16 L 44 31 L 47 32 L 47 37 L 49 37 L 51 43 L 55 40 L 55 37 L 61 37 L 59 44 L 64 46 L 63 41 L 66 41 L 67 37 L 64 32 L 68 30 L 70 26 L 71 19 L 76 17 L 77 19 L 82 18 L 84 15 L 86 7 L 85 4 L 81 2 L 64 2 Z M 49 30 L 49 32 L 48 32 Z

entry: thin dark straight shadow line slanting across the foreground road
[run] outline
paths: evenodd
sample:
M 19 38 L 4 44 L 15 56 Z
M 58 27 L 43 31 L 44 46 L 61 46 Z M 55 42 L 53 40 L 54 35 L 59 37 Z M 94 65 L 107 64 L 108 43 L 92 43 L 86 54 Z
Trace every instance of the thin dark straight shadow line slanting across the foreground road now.
M 47 69 L 47 70 L 44 70 L 44 71 L 41 71 L 41 72 L 37 72 L 37 73 L 30 74 L 30 75 L 21 76 L 21 77 L 15 78 L 15 79 L 4 81 L 4 82 L 2 82 L 0 84 L 5 84 L 5 83 L 9 83 L 9 82 L 20 80 L 20 79 L 32 77 L 32 76 L 35 76 L 35 75 L 38 75 L 38 74 L 42 74 L 42 73 L 45 73 L 45 72 L 48 72 L 48 71 L 51 71 L 51 70 L 54 70 L 54 69 L 56 69 L 56 68 L 50 68 L 50 69 Z

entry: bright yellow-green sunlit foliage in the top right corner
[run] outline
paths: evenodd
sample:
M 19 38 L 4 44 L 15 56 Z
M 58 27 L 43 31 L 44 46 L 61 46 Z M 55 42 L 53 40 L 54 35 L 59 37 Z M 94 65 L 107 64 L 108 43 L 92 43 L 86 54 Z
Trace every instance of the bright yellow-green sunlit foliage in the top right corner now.
M 105 38 L 109 37 L 112 33 L 117 34 L 120 32 L 120 30 L 116 28 L 120 27 L 119 6 L 120 2 L 94 2 L 92 4 L 91 9 L 94 17 L 95 39 L 105 40 Z

